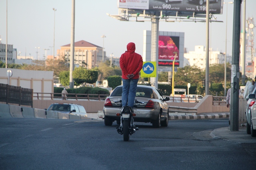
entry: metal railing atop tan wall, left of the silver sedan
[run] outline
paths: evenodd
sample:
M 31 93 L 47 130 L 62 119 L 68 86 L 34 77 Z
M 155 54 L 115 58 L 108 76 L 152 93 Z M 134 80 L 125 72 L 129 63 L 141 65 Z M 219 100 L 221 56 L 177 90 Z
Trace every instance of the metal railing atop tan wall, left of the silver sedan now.
M 37 98 L 37 100 L 43 100 L 44 98 L 50 98 L 51 100 L 54 100 L 54 98 L 62 98 L 62 93 L 39 93 L 34 92 L 33 97 Z M 48 96 L 45 96 L 48 95 Z M 68 99 L 85 99 L 85 100 L 105 100 L 106 97 L 108 97 L 109 94 L 68 94 Z

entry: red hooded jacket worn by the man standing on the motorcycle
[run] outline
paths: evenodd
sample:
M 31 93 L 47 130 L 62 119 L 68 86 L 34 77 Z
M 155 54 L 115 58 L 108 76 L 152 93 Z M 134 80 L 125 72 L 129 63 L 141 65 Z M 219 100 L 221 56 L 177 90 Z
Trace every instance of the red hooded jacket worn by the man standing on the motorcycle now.
M 133 79 L 139 78 L 139 72 L 142 69 L 143 60 L 141 55 L 135 53 L 135 44 L 128 43 L 127 51 L 120 57 L 120 68 L 122 70 L 122 78 L 128 79 L 128 74 L 134 74 Z

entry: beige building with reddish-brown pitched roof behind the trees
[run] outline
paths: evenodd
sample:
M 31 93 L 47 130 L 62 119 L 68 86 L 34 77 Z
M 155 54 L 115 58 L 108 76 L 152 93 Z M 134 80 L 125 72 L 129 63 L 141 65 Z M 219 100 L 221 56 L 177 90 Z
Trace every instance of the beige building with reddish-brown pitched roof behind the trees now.
M 70 60 L 70 44 L 63 45 L 57 50 L 58 57 L 65 57 Z M 104 51 L 104 60 L 106 51 Z M 88 69 L 98 66 L 102 62 L 102 47 L 81 40 L 74 43 L 74 65 L 83 66 Z M 86 66 L 88 65 L 88 67 Z

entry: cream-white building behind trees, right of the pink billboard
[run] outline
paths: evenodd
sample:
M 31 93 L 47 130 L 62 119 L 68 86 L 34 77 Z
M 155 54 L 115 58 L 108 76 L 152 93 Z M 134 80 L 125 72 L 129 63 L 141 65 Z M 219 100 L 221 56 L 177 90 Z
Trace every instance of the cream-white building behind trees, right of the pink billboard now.
M 190 66 L 197 66 L 198 68 L 206 68 L 206 49 L 203 45 L 196 45 L 195 51 L 184 53 L 184 58 L 188 59 Z M 232 62 L 232 56 L 227 55 L 227 63 Z M 220 51 L 209 50 L 209 64 L 224 64 L 225 54 Z

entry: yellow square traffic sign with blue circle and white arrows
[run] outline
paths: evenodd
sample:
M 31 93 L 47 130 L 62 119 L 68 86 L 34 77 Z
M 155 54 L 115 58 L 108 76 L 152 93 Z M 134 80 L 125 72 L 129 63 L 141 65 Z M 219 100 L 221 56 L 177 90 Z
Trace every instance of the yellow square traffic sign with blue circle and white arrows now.
M 156 77 L 156 61 L 143 62 L 142 69 L 140 71 L 141 77 Z

